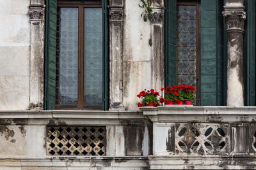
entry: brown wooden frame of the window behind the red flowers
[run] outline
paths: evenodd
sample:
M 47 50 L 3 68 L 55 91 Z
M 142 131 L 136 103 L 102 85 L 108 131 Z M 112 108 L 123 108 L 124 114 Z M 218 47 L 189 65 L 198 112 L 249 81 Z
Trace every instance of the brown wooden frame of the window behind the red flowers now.
M 196 105 L 201 102 L 201 14 L 200 1 L 178 0 L 177 6 L 191 5 L 196 6 Z

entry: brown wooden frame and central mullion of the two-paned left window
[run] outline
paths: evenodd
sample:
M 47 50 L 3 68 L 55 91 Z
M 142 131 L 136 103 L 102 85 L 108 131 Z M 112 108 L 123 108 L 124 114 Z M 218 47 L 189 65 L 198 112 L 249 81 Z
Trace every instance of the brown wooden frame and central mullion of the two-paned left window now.
M 59 110 L 102 110 L 102 106 L 84 106 L 84 8 L 102 8 L 101 1 L 58 1 L 58 8 L 78 8 L 77 105 L 55 104 Z M 56 95 L 57 96 L 57 95 Z M 102 101 L 103 102 L 103 101 Z

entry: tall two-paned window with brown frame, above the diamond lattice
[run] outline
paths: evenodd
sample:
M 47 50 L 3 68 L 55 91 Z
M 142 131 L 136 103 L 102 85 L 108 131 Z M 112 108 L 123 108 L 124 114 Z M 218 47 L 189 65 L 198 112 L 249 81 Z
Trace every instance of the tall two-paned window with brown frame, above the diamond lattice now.
M 58 1 L 56 108 L 102 108 L 102 3 Z

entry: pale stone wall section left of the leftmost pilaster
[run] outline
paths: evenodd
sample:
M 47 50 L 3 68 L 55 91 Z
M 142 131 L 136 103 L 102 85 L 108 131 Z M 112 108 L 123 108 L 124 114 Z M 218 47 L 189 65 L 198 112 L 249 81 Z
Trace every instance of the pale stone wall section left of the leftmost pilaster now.
M 29 106 L 29 3 L 0 1 L 0 110 Z

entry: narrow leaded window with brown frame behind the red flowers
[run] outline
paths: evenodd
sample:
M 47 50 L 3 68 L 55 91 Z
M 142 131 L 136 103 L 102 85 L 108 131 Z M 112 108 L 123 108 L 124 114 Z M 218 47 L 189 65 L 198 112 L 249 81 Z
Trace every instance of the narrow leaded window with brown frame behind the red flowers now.
M 199 7 L 193 1 L 177 1 L 176 83 L 196 87 L 197 99 L 200 98 Z

